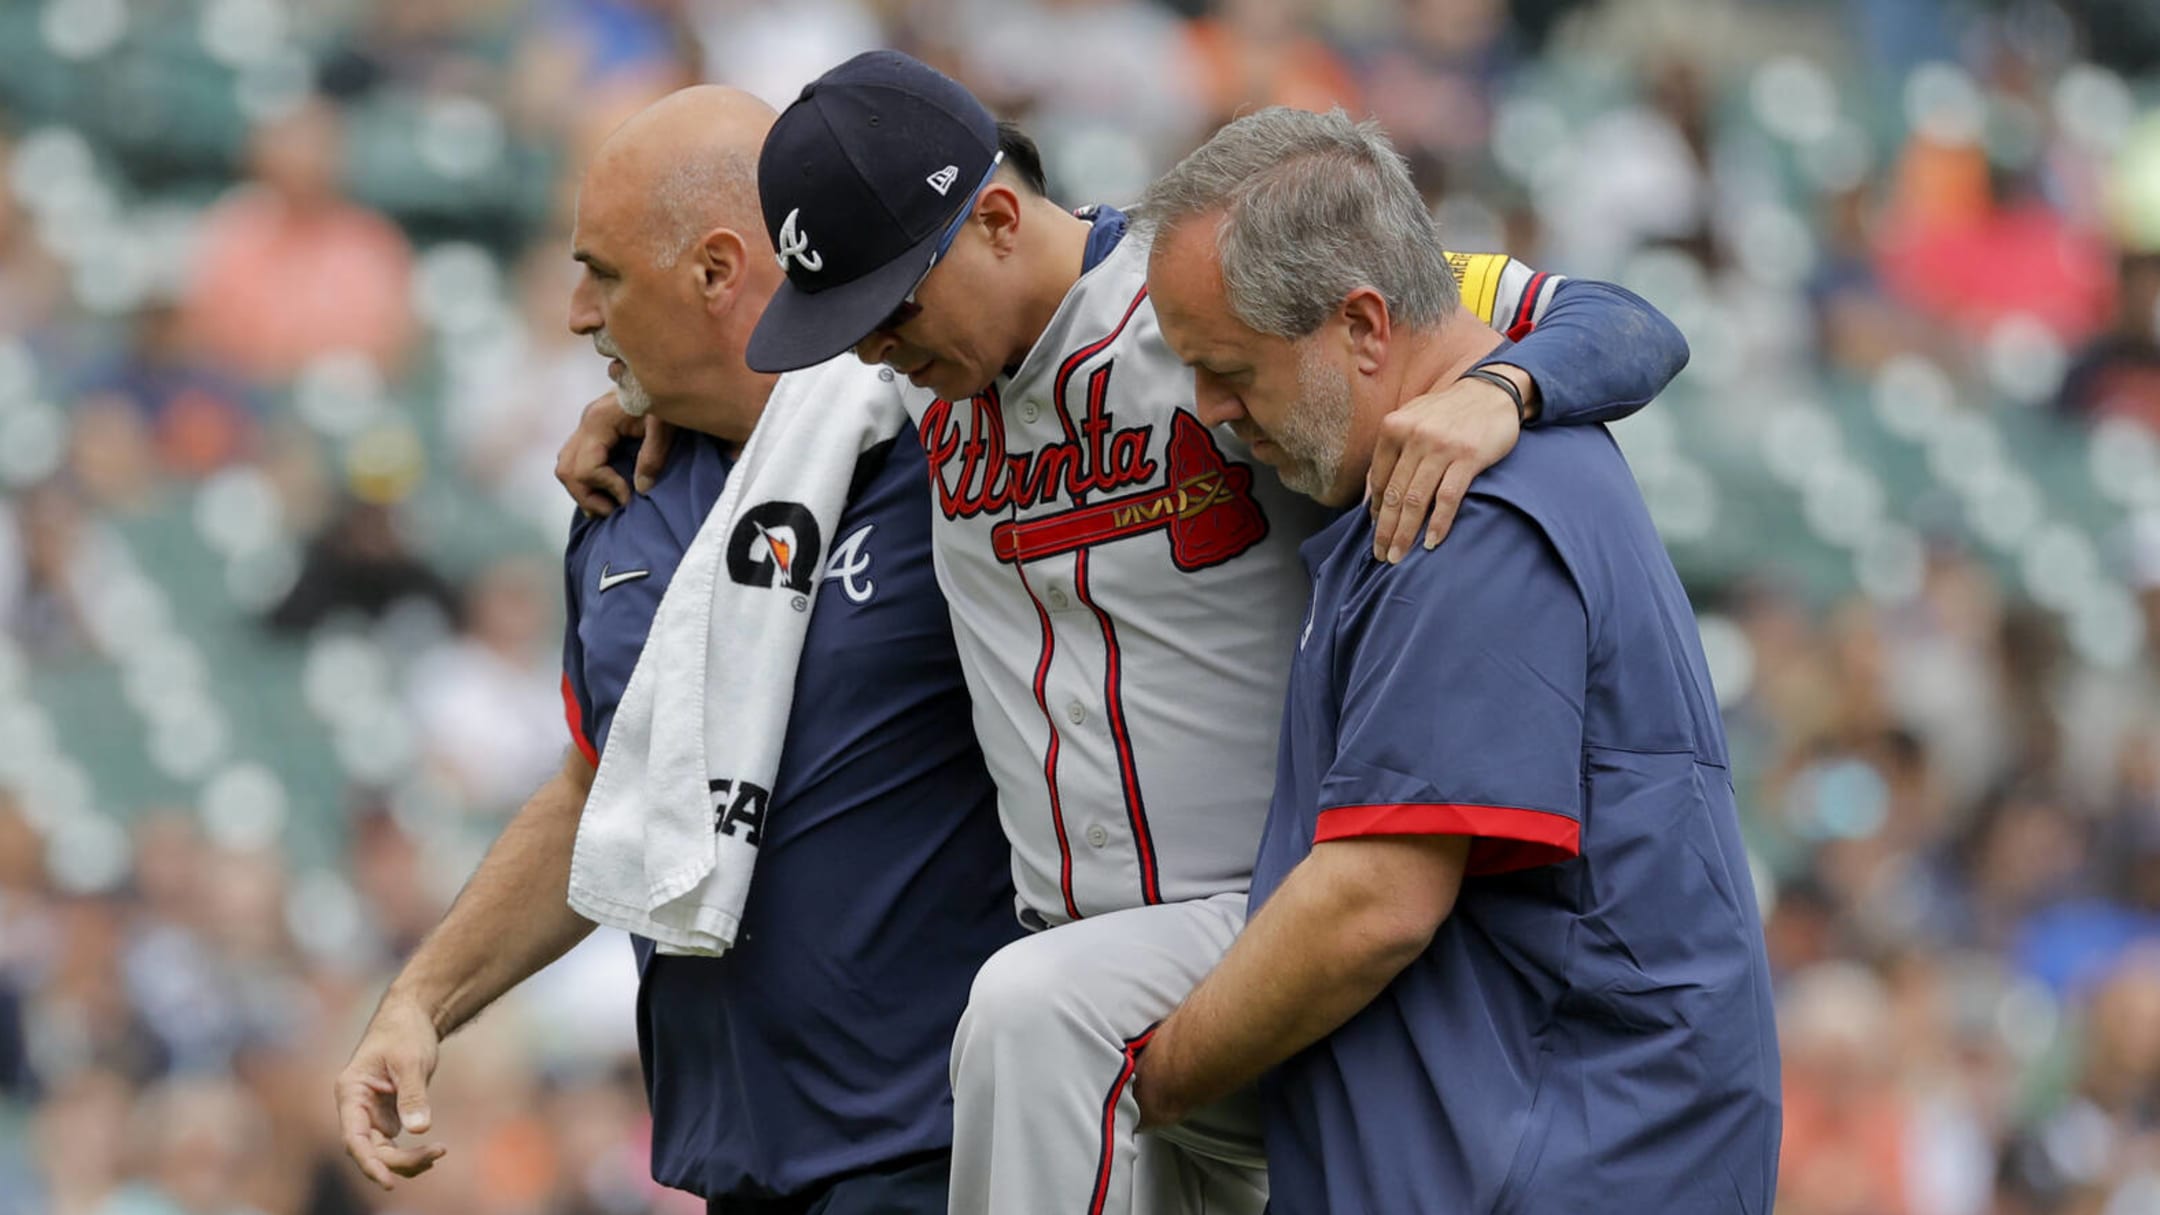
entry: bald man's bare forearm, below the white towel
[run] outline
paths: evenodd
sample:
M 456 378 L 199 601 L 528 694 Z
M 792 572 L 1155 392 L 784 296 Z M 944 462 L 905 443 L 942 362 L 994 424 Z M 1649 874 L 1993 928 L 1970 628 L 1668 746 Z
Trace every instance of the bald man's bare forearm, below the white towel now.
M 592 765 L 572 750 L 495 839 L 382 1003 L 417 1005 L 447 1038 L 592 932 L 570 910 L 570 852 L 590 789 Z

